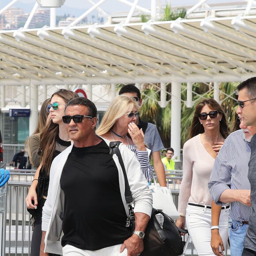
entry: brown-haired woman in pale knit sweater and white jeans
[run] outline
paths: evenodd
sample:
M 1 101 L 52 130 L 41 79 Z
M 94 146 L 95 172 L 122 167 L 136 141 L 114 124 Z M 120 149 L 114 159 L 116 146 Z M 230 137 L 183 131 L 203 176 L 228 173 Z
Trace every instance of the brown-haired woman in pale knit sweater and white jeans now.
M 227 243 L 229 206 L 222 207 L 219 226 L 211 226 L 212 200 L 208 182 L 216 155 L 228 135 L 226 116 L 218 102 L 204 99 L 196 105 L 189 139 L 183 147 L 180 218 L 176 225 L 184 228 L 186 217 L 188 233 L 198 255 L 214 255 L 211 249 L 213 228 L 219 228 L 224 245 Z

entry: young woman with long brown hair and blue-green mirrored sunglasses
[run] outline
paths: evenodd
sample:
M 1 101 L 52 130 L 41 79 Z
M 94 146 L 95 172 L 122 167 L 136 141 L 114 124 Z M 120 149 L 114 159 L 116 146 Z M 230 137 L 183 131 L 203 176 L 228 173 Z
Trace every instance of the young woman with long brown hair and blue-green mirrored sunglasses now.
M 47 198 L 51 163 L 60 152 L 71 145 L 66 124 L 63 123 L 62 117 L 64 116 L 65 104 L 75 97 L 79 96 L 71 90 L 57 90 L 53 93 L 51 103 L 46 108 L 51 120 L 41 132 L 41 163 L 26 196 L 26 207 L 37 209 L 31 240 L 31 256 L 38 256 L 40 253 L 42 208 Z

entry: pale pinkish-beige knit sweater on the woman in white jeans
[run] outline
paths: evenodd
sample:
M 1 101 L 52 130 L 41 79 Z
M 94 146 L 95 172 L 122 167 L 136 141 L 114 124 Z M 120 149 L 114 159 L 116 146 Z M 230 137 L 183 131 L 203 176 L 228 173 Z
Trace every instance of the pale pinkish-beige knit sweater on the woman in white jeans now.
M 214 160 L 203 147 L 200 134 L 184 144 L 183 178 L 178 205 L 180 214 L 186 215 L 188 202 L 211 205 L 208 182 Z

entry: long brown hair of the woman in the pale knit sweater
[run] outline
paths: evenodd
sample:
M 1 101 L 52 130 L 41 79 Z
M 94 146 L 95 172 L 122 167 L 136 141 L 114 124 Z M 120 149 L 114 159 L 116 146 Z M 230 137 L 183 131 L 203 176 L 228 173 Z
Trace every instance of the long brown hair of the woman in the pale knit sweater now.
M 189 128 L 189 139 L 204 132 L 203 125 L 200 124 L 198 117 L 201 112 L 201 109 L 205 105 L 209 105 L 209 107 L 211 107 L 211 109 L 218 110 L 218 113 L 222 114 L 222 119 L 220 121 L 220 133 L 222 134 L 223 138 L 226 139 L 226 137 L 230 133 L 226 115 L 225 115 L 222 107 L 218 104 L 218 102 L 216 102 L 215 99 L 211 99 L 211 98 L 203 99 L 201 102 L 199 102 L 196 105 L 192 124 L 190 125 L 190 128 Z

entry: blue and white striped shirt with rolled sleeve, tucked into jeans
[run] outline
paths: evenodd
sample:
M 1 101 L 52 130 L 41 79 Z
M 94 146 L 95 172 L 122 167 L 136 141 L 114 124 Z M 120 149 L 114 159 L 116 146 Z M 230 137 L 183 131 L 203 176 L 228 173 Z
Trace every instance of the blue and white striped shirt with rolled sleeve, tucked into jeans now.
M 242 130 L 232 132 L 225 139 L 212 169 L 209 190 L 212 200 L 218 205 L 226 189 L 251 189 L 248 180 L 248 162 L 250 160 L 250 143 L 245 141 Z M 230 217 L 236 221 L 248 221 L 250 207 L 240 202 L 231 202 Z

